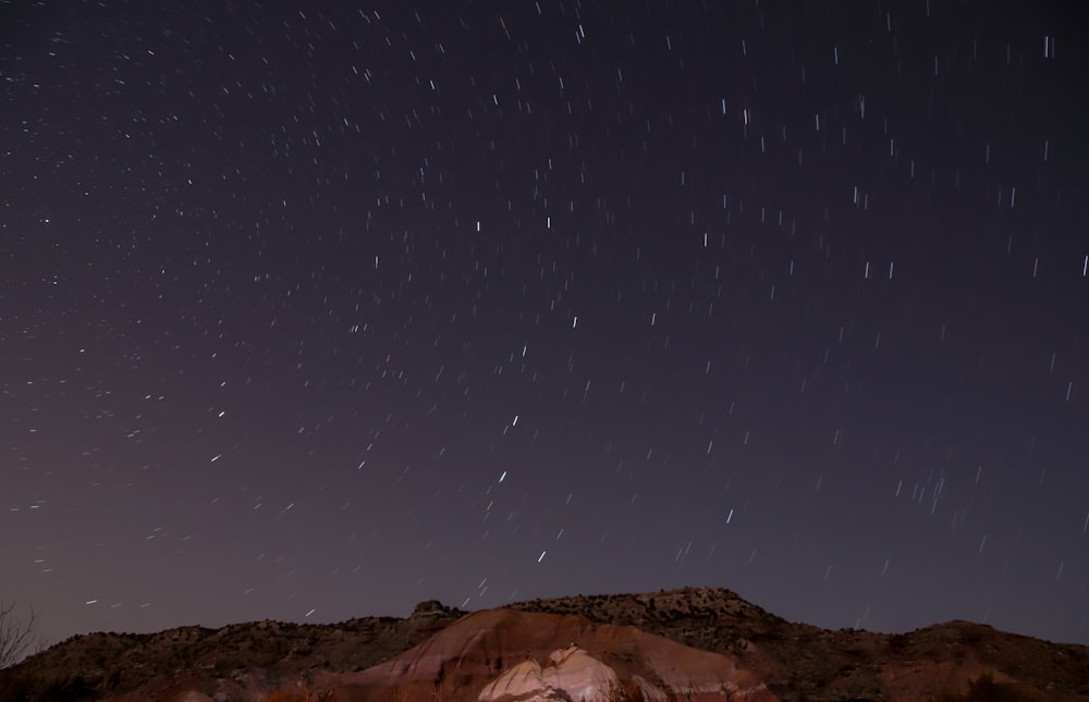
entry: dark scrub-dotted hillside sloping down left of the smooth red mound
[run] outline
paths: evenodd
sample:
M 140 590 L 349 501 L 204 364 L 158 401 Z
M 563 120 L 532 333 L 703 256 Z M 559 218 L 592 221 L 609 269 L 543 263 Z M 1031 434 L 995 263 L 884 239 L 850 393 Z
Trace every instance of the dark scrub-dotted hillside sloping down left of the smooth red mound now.
M 465 614 L 429 601 L 405 619 L 364 617 L 337 625 L 266 620 L 221 629 L 77 636 L 0 670 L 0 702 L 101 700 L 174 678 L 197 681 L 198 689 L 246 678 L 256 688 L 253 699 L 260 699 L 265 688 L 310 670 L 377 665 Z

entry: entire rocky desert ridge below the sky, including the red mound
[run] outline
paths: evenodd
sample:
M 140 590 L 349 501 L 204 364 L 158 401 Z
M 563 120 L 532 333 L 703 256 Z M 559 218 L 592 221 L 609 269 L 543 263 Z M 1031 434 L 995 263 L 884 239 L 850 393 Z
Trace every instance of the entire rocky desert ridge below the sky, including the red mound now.
M 403 619 L 73 637 L 0 672 L 0 702 L 929 701 L 970 686 L 1089 700 L 1089 646 L 968 621 L 829 631 L 709 588 L 474 613 L 429 601 Z

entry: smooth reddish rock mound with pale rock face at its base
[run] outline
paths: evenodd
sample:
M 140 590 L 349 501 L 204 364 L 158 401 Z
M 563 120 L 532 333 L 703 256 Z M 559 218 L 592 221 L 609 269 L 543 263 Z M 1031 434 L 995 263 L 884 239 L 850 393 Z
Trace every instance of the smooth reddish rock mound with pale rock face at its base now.
M 722 654 L 577 615 L 488 609 L 340 680 L 345 701 L 692 700 L 774 695 Z

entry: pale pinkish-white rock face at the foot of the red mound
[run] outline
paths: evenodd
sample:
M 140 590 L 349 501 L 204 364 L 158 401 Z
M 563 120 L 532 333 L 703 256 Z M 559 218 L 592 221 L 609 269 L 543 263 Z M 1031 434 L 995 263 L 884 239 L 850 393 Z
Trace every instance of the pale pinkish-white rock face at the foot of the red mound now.
M 619 686 L 611 667 L 573 644 L 553 651 L 543 668 L 536 661 L 523 661 L 490 682 L 477 699 L 608 702 L 610 691 Z

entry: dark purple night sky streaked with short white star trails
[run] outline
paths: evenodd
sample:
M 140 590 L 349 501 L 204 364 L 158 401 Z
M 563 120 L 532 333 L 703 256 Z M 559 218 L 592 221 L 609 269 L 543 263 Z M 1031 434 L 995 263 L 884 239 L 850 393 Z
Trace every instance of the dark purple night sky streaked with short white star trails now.
M 0 3 L 0 595 L 1089 643 L 1082 13 Z

